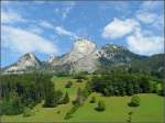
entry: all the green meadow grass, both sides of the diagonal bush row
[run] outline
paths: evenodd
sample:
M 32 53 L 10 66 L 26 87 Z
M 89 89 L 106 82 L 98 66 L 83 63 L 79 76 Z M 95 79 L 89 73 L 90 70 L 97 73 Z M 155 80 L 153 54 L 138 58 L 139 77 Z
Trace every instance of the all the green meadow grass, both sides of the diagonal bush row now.
M 65 88 L 68 80 L 73 81 L 72 88 Z M 63 92 L 67 91 L 70 99 L 76 97 L 77 89 L 84 88 L 85 82 L 78 83 L 75 79 L 69 77 L 53 78 L 56 89 L 61 89 Z M 97 101 L 103 100 L 106 103 L 106 111 L 97 112 L 95 108 L 97 103 L 89 103 L 91 96 L 95 96 Z M 129 108 L 128 102 L 130 97 L 102 97 L 99 93 L 92 93 L 85 104 L 80 107 L 73 118 L 68 121 L 97 121 L 97 122 L 127 122 L 128 113 L 133 111 L 132 121 L 147 122 L 147 123 L 163 123 L 164 114 L 164 99 L 160 96 L 147 93 L 140 94 L 141 105 L 139 108 Z M 6 122 L 58 122 L 64 121 L 66 112 L 73 107 L 72 101 L 68 104 L 62 104 L 57 108 L 42 108 L 42 104 L 37 104 L 34 110 L 35 114 L 30 118 L 23 118 L 20 115 L 2 116 L 2 121 Z M 61 111 L 61 113 L 57 113 Z

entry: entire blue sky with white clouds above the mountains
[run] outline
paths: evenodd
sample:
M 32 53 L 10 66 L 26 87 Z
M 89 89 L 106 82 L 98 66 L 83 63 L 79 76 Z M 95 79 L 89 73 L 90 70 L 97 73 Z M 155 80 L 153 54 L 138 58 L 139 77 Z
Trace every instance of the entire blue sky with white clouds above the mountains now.
M 1 66 L 25 53 L 41 60 L 68 53 L 77 38 L 100 48 L 125 46 L 151 56 L 164 52 L 163 1 L 2 1 Z

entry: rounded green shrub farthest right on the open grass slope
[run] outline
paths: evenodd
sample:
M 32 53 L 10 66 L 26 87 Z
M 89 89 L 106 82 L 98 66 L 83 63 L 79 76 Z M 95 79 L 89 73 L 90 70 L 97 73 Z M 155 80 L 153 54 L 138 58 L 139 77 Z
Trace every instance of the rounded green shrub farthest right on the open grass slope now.
M 139 107 L 140 105 L 140 102 L 141 102 L 141 99 L 139 96 L 133 96 L 131 98 L 131 102 L 129 102 L 129 105 L 130 107 Z

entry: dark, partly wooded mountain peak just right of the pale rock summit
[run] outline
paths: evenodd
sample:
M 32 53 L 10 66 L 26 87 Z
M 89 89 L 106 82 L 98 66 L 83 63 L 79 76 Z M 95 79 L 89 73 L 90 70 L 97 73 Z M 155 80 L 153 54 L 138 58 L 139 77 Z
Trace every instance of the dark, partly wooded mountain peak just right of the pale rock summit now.
M 98 53 L 99 62 L 102 66 L 124 65 L 134 59 L 145 59 L 146 56 L 141 56 L 130 52 L 128 48 L 114 44 L 105 45 Z

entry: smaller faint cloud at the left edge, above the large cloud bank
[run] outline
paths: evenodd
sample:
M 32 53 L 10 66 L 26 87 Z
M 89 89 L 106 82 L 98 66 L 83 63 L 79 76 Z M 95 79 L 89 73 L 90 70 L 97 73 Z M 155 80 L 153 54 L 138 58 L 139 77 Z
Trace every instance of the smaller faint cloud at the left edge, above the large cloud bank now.
M 23 19 L 20 14 L 16 12 L 10 12 L 10 11 L 1 11 L 1 23 L 14 23 L 14 22 L 24 22 L 25 19 Z

